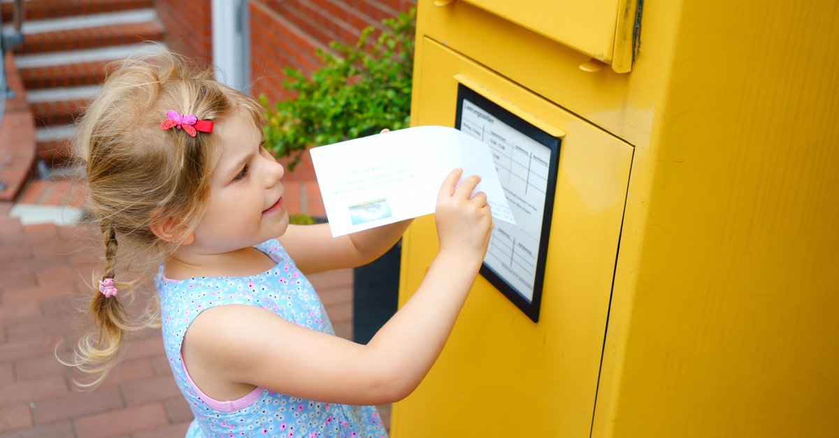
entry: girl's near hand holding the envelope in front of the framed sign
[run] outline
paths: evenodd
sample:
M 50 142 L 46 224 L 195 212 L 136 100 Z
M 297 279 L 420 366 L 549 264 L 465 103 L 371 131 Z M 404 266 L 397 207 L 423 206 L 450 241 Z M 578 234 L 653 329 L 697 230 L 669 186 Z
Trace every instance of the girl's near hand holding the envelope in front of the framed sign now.
M 440 238 L 440 253 L 456 253 L 466 261 L 482 262 L 487 253 L 492 231 L 492 215 L 487 195 L 472 196 L 481 177 L 472 175 L 457 185 L 463 169 L 455 169 L 446 176 L 437 195 L 435 220 Z

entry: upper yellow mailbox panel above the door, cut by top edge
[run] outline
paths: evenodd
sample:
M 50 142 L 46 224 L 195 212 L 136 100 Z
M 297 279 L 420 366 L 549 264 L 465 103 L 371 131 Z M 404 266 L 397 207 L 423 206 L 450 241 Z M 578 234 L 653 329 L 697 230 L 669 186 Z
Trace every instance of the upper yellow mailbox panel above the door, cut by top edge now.
M 620 0 L 457 1 L 472 3 L 598 60 L 612 61 Z M 456 2 L 445 7 L 451 8 Z

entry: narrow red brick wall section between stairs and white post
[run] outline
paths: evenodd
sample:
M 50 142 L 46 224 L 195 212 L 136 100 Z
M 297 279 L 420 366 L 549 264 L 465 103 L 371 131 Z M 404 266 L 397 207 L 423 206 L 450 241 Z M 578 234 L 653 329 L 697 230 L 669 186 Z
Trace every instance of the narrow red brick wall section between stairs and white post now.
M 154 8 L 166 28 L 166 45 L 195 60 L 212 60 L 211 0 L 157 0 Z

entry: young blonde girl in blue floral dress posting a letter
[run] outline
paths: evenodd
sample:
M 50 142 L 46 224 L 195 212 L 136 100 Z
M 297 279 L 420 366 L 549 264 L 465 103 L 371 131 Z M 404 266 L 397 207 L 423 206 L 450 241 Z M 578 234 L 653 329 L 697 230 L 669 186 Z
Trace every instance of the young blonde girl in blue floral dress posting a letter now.
M 187 436 L 385 435 L 369 405 L 417 387 L 487 251 L 480 179 L 458 185 L 456 169 L 442 181 L 440 253 L 420 288 L 367 345 L 341 339 L 304 274 L 378 258 L 409 221 L 336 238 L 328 224 L 289 225 L 283 166 L 261 145 L 263 108 L 209 75 L 168 53 L 128 61 L 81 118 L 74 149 L 106 258 L 96 330 L 74 365 L 95 386 L 125 331 L 149 326 L 122 305 L 133 286 L 115 282 L 117 243 L 133 242 L 162 262 L 166 355 L 195 415 Z

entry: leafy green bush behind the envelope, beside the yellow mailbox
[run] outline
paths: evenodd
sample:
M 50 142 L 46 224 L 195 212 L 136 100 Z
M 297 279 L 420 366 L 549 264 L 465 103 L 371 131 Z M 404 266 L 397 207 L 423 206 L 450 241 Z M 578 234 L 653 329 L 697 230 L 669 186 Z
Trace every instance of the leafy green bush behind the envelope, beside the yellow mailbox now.
M 296 97 L 266 108 L 265 147 L 277 157 L 291 157 L 289 170 L 305 149 L 364 137 L 383 128 L 409 126 L 414 69 L 415 11 L 382 21 L 385 29 L 372 43 L 373 26 L 356 44 L 330 43 L 333 53 L 317 50 L 323 62 L 305 76 L 287 67 L 284 85 Z

